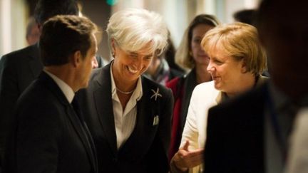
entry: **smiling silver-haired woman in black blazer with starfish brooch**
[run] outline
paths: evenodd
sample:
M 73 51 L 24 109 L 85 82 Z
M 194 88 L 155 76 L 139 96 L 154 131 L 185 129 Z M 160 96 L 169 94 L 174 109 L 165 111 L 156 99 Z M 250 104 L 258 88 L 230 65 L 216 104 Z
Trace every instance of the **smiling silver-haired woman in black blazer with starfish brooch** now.
M 113 61 L 79 93 L 98 152 L 99 172 L 168 172 L 171 90 L 142 74 L 167 46 L 162 17 L 125 9 L 107 27 Z

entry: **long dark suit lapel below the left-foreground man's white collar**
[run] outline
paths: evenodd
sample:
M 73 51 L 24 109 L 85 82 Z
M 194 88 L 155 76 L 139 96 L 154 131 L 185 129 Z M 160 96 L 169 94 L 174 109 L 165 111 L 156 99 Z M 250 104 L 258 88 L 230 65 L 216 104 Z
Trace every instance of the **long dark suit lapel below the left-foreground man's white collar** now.
M 49 88 L 53 92 L 54 95 L 56 95 L 56 98 L 58 98 L 58 101 L 65 107 L 66 115 L 68 116 L 68 119 L 71 121 L 71 124 L 76 130 L 78 137 L 80 137 L 81 142 L 83 143 L 83 146 L 85 147 L 86 152 L 88 154 L 88 158 L 93 164 L 93 168 L 96 169 L 95 155 L 93 154 L 93 149 L 89 141 L 90 139 L 88 139 L 91 136 L 88 136 L 86 134 L 86 131 L 83 128 L 83 125 L 81 124 L 82 122 L 78 118 L 78 115 L 76 114 L 76 112 L 73 110 L 73 107 L 71 106 L 70 103 L 68 103 L 68 100 L 66 99 L 65 95 L 62 93 L 58 85 L 45 72 L 41 73 L 41 75 L 39 76 L 39 79 L 42 80 L 43 83 L 46 84 L 46 87 Z

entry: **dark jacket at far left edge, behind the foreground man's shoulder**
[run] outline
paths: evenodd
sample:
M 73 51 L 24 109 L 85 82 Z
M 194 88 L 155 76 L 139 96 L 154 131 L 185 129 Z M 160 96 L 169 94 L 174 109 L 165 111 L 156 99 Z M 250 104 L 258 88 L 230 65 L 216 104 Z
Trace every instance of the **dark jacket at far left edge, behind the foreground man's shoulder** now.
M 0 156 L 16 100 L 42 69 L 38 44 L 6 54 L 0 60 Z

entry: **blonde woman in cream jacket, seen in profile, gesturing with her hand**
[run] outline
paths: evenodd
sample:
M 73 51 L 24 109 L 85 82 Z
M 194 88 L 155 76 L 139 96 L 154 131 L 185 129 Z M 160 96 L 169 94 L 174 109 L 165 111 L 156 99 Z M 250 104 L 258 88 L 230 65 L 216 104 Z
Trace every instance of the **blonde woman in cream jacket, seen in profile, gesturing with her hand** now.
M 205 34 L 201 46 L 209 56 L 207 70 L 213 81 L 193 90 L 181 147 L 171 161 L 173 172 L 202 172 L 207 111 L 266 80 L 261 75 L 266 68 L 265 51 L 254 26 L 238 22 L 217 26 Z

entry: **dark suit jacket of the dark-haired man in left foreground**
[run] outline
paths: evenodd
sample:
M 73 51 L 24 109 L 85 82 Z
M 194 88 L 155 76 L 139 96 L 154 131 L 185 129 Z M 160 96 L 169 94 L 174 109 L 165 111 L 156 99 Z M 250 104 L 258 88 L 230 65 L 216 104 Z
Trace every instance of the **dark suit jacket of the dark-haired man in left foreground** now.
M 46 73 L 24 91 L 14 115 L 6 172 L 96 172 L 96 151 L 84 121 Z

